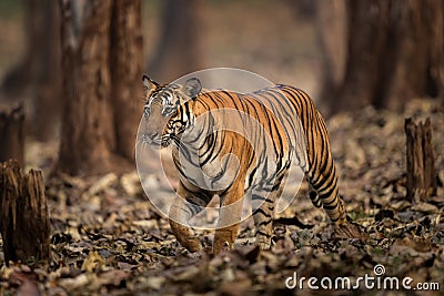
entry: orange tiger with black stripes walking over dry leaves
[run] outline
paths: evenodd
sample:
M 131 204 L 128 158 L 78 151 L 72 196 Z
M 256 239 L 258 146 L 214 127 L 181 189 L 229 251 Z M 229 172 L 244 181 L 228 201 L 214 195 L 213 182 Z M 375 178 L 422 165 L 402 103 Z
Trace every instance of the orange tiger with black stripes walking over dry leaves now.
M 253 213 L 255 244 L 261 249 L 269 249 L 272 245 L 275 202 L 282 194 L 283 181 L 287 177 L 291 163 L 296 163 L 303 170 L 310 184 L 309 196 L 312 203 L 323 207 L 334 225 L 347 224 L 325 122 L 304 91 L 286 84 L 275 84 L 250 93 L 205 90 L 199 78 L 190 78 L 183 84 L 161 85 L 147 75 L 143 75 L 142 81 L 145 89 L 142 141 L 160 147 L 172 146 L 172 159 L 180 182 L 176 201 L 170 208 L 169 223 L 179 243 L 189 252 L 201 251 L 203 246 L 188 222 L 214 195 L 220 196 L 219 222 L 222 227 L 215 229 L 212 252 L 218 254 L 233 247 L 241 214 L 239 206 L 230 205 L 239 202 L 245 192 L 251 194 L 253 203 L 260 202 Z M 246 114 L 261 123 L 262 132 L 249 131 L 253 141 L 260 143 L 260 152 L 253 151 L 251 143 L 239 133 L 223 129 L 211 132 L 214 126 L 223 127 L 229 122 L 242 125 L 242 121 L 245 121 L 241 118 L 236 121 L 235 113 L 211 115 L 222 109 Z M 203 114 L 210 116 L 199 121 Z M 305 151 L 297 151 L 297 143 L 294 143 L 297 140 L 289 136 L 289 130 L 295 126 L 296 119 L 303 127 Z M 189 140 L 184 140 L 186 133 L 195 135 L 195 139 L 190 140 L 188 136 Z M 264 133 L 271 139 L 266 145 Z M 199 142 L 195 147 L 196 160 L 186 157 L 184 141 Z M 305 162 L 300 157 L 301 153 L 306 156 Z M 224 157 L 228 154 L 235 155 L 239 161 L 234 172 Z M 270 165 L 270 157 L 274 157 L 274 165 Z M 224 178 L 224 186 L 199 186 L 195 181 L 196 171 L 184 169 L 184 159 L 191 166 L 209 174 L 211 182 Z

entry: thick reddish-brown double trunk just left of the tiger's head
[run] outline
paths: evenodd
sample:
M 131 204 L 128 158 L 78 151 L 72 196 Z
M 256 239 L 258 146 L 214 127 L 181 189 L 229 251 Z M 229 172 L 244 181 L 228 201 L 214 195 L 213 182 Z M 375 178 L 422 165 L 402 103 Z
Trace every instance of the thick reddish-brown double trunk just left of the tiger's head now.
M 58 169 L 128 170 L 142 105 L 140 0 L 63 0 L 65 99 Z

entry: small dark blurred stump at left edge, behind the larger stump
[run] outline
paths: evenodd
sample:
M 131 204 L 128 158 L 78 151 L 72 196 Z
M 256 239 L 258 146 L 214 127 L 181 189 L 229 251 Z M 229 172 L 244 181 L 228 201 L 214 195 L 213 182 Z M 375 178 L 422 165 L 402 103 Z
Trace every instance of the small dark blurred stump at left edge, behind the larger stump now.
M 23 167 L 23 105 L 12 110 L 0 110 L 0 162 L 12 159 Z

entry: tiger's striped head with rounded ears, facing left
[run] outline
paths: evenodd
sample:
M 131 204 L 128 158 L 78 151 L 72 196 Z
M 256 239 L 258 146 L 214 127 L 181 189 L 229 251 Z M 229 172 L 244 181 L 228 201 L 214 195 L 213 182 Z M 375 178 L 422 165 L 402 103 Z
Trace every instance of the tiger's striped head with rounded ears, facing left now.
M 183 85 L 160 85 L 143 75 L 142 81 L 145 88 L 142 141 L 161 147 L 169 146 L 171 141 L 178 143 L 191 118 L 184 103 L 199 95 L 202 90 L 200 80 L 191 78 Z

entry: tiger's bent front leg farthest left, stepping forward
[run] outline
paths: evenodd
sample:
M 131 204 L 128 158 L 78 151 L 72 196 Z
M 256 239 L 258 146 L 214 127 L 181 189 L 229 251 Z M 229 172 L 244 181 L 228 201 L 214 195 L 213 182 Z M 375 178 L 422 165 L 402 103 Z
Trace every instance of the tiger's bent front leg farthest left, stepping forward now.
M 182 182 L 178 187 L 178 195 L 170 208 L 170 227 L 179 243 L 190 252 L 202 249 L 202 244 L 189 226 L 190 220 L 206 206 L 206 196 L 198 196 L 189 191 Z

